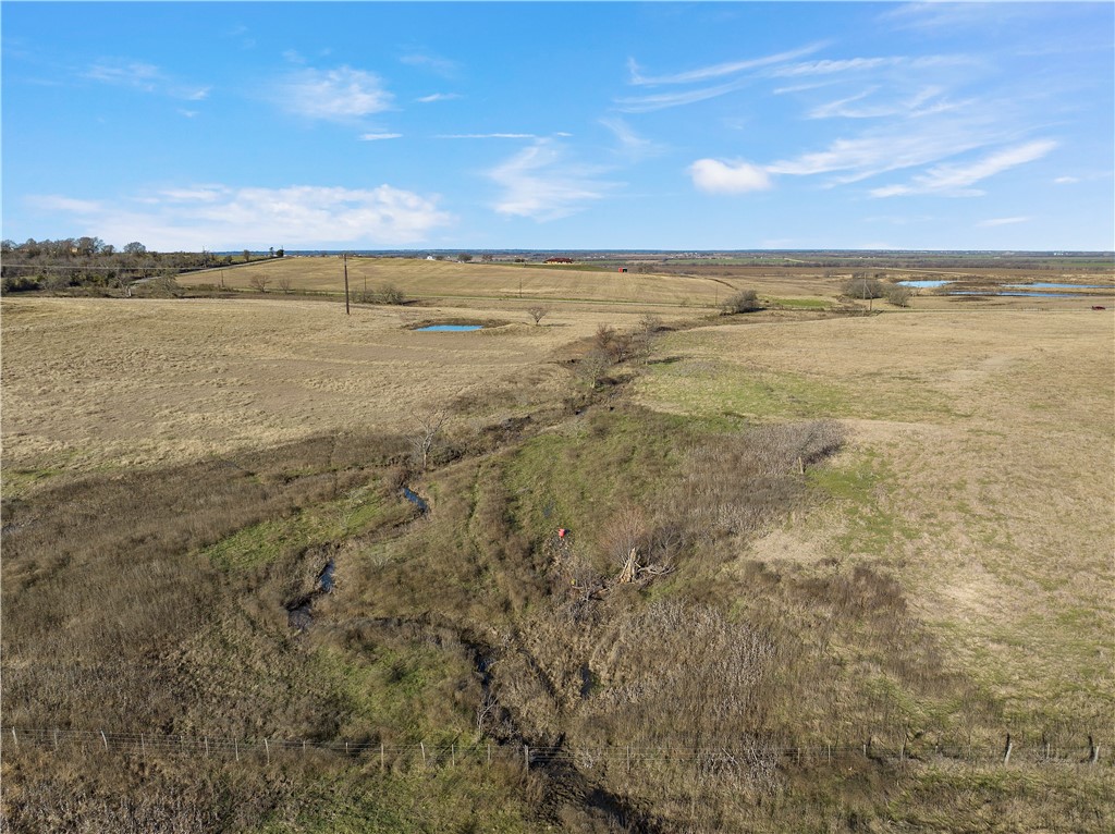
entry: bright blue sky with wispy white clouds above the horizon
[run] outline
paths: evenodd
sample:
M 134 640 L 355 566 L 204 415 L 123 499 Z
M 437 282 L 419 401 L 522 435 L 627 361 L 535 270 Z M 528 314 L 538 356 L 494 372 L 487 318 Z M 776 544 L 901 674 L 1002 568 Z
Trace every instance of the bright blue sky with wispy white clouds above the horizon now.
M 1115 249 L 1115 6 L 4 2 L 4 237 Z

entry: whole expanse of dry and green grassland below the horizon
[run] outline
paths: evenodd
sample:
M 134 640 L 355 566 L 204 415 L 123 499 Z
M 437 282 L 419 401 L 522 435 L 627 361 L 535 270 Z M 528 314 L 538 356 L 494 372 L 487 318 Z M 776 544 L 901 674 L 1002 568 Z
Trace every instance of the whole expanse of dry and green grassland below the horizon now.
M 337 289 L 328 259 L 226 285 L 275 266 Z M 6 730 L 8 828 L 1115 823 L 1109 310 L 367 268 L 428 298 L 3 300 L 4 727 L 388 750 L 58 755 Z M 728 285 L 797 303 L 694 302 Z M 465 320 L 489 327 L 411 329 Z M 524 768 L 524 745 L 568 758 Z

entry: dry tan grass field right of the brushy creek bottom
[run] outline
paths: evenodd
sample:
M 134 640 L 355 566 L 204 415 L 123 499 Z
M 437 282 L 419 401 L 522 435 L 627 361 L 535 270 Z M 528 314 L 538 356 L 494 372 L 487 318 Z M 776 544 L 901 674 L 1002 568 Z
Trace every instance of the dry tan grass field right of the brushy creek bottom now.
M 884 565 L 1010 719 L 1115 714 L 1109 312 L 933 312 L 671 334 L 638 384 L 694 416 L 852 428 L 805 524 L 747 559 Z

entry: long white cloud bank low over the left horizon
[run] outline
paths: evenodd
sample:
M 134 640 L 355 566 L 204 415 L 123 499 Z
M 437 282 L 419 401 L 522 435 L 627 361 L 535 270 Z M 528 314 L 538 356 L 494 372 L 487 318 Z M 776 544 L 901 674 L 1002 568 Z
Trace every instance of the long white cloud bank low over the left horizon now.
M 437 197 L 390 185 L 367 190 L 204 185 L 112 202 L 47 195 L 33 204 L 40 211 L 69 214 L 106 240 L 139 240 L 151 249 L 169 251 L 406 245 L 425 241 L 433 230 L 453 221 L 438 208 Z

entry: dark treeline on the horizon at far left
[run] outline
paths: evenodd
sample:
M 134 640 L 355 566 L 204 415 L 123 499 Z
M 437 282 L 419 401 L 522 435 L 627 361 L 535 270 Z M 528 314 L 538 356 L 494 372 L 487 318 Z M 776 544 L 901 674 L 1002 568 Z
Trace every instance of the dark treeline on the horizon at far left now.
M 283 251 L 253 255 L 213 252 L 152 252 L 138 241 L 117 249 L 99 237 L 64 237 L 25 243 L 0 243 L 0 285 L 3 292 L 127 288 L 145 278 L 176 275 L 190 270 L 245 263 L 254 258 L 282 258 Z

